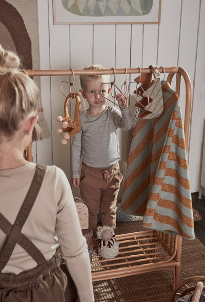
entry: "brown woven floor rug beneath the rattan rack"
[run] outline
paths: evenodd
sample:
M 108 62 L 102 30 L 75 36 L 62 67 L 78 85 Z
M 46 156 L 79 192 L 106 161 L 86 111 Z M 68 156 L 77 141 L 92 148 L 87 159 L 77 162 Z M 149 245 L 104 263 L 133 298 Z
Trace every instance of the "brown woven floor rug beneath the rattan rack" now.
M 144 228 L 140 221 L 118 222 L 116 234 L 131 233 Z M 180 280 L 205 274 L 205 247 L 196 238 L 182 240 Z M 93 282 L 95 302 L 168 302 L 172 292 L 170 271 Z

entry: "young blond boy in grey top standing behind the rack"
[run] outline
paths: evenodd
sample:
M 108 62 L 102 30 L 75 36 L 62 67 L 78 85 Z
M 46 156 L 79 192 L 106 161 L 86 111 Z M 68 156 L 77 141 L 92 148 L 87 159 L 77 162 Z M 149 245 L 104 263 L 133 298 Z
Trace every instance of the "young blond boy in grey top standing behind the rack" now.
M 84 69 L 105 67 L 90 65 Z M 109 81 L 109 75 L 80 75 L 80 92 L 87 99 L 89 108 L 85 114 L 80 114 L 81 131 L 72 141 L 72 184 L 80 188 L 81 198 L 88 206 L 93 234 L 99 210 L 103 225 L 116 224 L 117 194 L 122 180 L 117 128 L 129 130 L 133 125 L 129 107 L 119 110 L 106 105 L 104 97 L 108 98 L 111 90 L 106 84 Z M 121 93 L 116 95 L 116 100 L 123 106 L 125 100 Z M 83 159 L 81 175 L 80 157 Z

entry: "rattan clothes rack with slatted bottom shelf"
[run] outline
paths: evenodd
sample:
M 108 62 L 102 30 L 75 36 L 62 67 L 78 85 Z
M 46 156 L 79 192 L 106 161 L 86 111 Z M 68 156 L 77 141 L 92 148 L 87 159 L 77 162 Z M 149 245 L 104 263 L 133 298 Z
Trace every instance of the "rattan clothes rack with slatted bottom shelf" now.
M 185 117 L 184 131 L 188 149 L 192 87 L 188 73 L 181 67 L 159 67 L 160 73 L 167 74 L 171 84 L 176 74 L 175 91 L 180 96 L 181 77 L 185 81 Z M 150 68 L 120 68 L 102 70 L 26 70 L 30 77 L 51 75 L 80 75 L 80 74 L 139 74 L 150 73 Z M 180 98 L 179 98 L 180 100 Z M 181 101 L 182 102 L 182 101 Z M 27 160 L 32 161 L 32 144 L 26 150 Z M 181 243 L 179 235 L 168 235 L 155 230 L 133 230 L 133 233 L 116 235 L 120 243 L 119 254 L 114 259 L 101 259 L 94 251 L 92 256 L 92 279 L 100 281 L 126 277 L 141 273 L 160 270 L 171 270 L 173 273 L 173 288 L 179 283 L 181 266 Z M 95 242 L 94 242 L 95 243 Z

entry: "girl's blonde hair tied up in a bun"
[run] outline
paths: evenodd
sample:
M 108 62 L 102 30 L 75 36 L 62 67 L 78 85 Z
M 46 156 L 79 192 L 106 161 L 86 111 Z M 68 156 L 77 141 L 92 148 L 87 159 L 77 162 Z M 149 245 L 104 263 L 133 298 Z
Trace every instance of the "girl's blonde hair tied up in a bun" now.
M 37 111 L 38 88 L 28 75 L 20 70 L 18 56 L 0 44 L 0 136 L 12 137 L 20 122 Z M 34 129 L 39 139 L 39 126 Z

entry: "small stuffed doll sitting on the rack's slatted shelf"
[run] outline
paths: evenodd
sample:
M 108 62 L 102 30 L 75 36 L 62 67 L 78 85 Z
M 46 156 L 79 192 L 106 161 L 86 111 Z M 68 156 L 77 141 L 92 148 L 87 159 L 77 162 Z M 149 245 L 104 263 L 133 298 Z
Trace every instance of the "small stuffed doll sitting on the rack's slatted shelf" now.
M 115 238 L 115 228 L 115 225 L 97 227 L 98 254 L 103 259 L 115 258 L 119 253 L 119 241 Z

